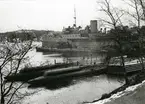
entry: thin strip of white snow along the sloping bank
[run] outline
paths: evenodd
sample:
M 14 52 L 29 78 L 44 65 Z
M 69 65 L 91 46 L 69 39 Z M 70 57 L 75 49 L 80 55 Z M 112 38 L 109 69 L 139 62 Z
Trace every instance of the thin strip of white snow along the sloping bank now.
M 110 98 L 107 98 L 107 99 L 104 99 L 104 100 L 100 100 L 100 101 L 95 102 L 95 103 L 88 103 L 88 104 L 105 104 L 107 102 L 110 102 L 113 99 L 120 98 L 123 95 L 128 94 L 129 92 L 132 92 L 132 91 L 136 90 L 137 88 L 143 86 L 144 84 L 145 84 L 145 81 L 143 81 L 140 84 L 137 84 L 137 85 L 134 85 L 134 86 L 130 86 L 130 87 L 126 88 L 126 90 L 118 92 L 117 94 L 113 94 Z

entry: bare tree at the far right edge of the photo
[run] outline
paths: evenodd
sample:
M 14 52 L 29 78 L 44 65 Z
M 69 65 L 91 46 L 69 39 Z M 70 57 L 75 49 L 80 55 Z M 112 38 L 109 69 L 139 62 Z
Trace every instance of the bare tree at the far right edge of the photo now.
M 127 3 L 130 7 L 132 12 L 126 11 L 127 15 L 129 15 L 129 19 L 133 18 L 134 21 L 131 21 L 133 24 L 136 25 L 136 31 L 137 34 L 139 36 L 138 38 L 138 42 L 136 42 L 136 44 L 138 44 L 139 50 L 138 50 L 138 60 L 142 66 L 142 69 L 145 68 L 144 66 L 144 62 L 143 62 L 143 57 L 144 57 L 144 52 L 143 52 L 143 48 L 144 48 L 144 34 L 141 32 L 141 26 L 144 25 L 143 22 L 145 22 L 145 4 L 143 2 L 143 0 L 123 0 L 125 3 Z M 143 70 L 144 71 L 144 70 Z

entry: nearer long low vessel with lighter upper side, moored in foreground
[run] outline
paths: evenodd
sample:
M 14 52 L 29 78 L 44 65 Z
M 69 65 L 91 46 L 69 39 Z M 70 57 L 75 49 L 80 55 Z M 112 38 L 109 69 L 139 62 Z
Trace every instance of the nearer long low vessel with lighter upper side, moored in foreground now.
M 71 69 L 70 69 L 71 70 Z M 98 74 L 103 74 L 106 72 L 105 67 L 100 67 L 98 68 L 97 65 L 95 66 L 86 66 L 86 67 L 81 67 L 81 70 L 76 70 L 73 72 L 69 73 L 59 73 L 57 75 L 51 75 L 47 74 L 32 80 L 29 80 L 28 83 L 31 86 L 35 85 L 47 85 L 51 83 L 51 81 L 55 80 L 63 80 L 63 79 L 69 79 L 69 78 L 76 78 L 76 77 L 82 77 L 86 75 L 98 75 Z

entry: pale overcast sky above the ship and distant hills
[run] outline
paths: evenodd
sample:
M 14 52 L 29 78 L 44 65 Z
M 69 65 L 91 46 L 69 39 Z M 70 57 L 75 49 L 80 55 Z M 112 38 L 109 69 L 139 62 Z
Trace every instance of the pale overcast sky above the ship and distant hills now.
M 86 26 L 97 19 L 97 0 L 0 0 L 0 32 L 19 29 L 62 30 L 74 23 Z M 114 0 L 115 4 L 118 0 Z

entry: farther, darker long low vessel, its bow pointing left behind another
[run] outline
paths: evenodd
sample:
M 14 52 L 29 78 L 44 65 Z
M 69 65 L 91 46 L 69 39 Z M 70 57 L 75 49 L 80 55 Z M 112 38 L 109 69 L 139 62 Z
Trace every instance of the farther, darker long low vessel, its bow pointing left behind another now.
M 9 76 L 5 77 L 5 80 L 10 81 L 28 81 L 33 78 L 37 78 L 40 76 L 43 76 L 45 72 L 49 72 L 49 70 L 52 72 L 52 70 L 59 70 L 61 68 L 66 68 L 74 66 L 74 63 L 61 63 L 56 65 L 46 65 L 46 66 L 38 66 L 38 67 L 30 67 L 30 68 L 24 68 L 21 69 L 19 73 L 17 74 L 11 74 Z

